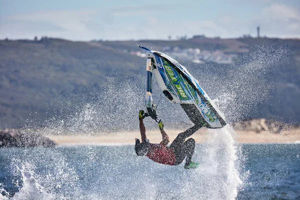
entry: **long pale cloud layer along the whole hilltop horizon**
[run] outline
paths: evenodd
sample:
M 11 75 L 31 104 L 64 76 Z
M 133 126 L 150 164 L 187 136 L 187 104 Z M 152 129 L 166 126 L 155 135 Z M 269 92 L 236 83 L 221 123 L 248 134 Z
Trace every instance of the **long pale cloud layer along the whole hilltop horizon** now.
M 165 6 L 160 6 L 165 7 Z M 300 11 L 284 4 L 270 4 L 252 18 L 233 13 L 214 19 L 165 17 L 173 10 L 159 10 L 159 6 L 146 8 L 131 6 L 107 10 L 82 9 L 47 11 L 1 16 L 0 38 L 33 38 L 37 36 L 61 37 L 72 40 L 91 39 L 167 39 L 196 34 L 206 36 L 238 37 L 256 34 L 260 25 L 261 35 L 300 37 Z

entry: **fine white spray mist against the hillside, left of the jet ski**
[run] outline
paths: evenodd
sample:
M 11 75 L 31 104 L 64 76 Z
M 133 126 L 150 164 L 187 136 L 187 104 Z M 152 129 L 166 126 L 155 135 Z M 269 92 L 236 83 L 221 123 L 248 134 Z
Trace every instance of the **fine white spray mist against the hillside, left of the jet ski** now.
M 119 82 L 118 77 L 106 77 L 105 86 L 96 91 L 94 101 L 72 99 L 76 106 L 63 116 L 53 116 L 44 122 L 44 132 L 91 135 L 99 132 L 132 130 L 132 119 L 144 104 L 141 87 L 132 80 Z M 70 99 L 57 102 L 61 109 Z

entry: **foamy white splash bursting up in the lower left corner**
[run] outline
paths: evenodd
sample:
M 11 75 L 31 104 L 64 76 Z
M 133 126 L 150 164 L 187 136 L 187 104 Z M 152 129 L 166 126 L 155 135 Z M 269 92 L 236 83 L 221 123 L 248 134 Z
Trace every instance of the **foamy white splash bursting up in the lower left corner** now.
M 0 185 L 3 199 L 66 199 L 70 191 L 72 195 L 78 194 L 78 175 L 57 149 L 13 150 L 10 177 L 16 191 L 9 192 Z

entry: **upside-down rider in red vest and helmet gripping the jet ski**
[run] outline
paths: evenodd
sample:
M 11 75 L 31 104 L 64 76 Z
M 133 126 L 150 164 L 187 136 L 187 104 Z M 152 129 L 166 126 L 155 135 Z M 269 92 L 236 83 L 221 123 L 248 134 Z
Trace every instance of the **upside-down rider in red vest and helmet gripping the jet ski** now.
M 143 118 L 145 116 L 148 116 L 148 113 L 144 113 L 143 110 L 139 110 L 139 130 L 142 142 L 135 138 L 134 149 L 137 155 L 146 155 L 149 159 L 155 162 L 168 165 L 178 165 L 186 157 L 184 164 L 185 169 L 196 168 L 199 166 L 197 162 L 191 160 L 195 148 L 195 140 L 193 138 L 189 138 L 186 141 L 184 140 L 202 127 L 202 125 L 194 125 L 184 132 L 179 133 L 171 145 L 167 146 L 169 143 L 169 137 L 163 130 L 164 125 L 161 121 L 158 122 L 158 127 L 162 135 L 162 141 L 159 144 L 150 143 L 146 138 L 146 129 L 143 124 Z

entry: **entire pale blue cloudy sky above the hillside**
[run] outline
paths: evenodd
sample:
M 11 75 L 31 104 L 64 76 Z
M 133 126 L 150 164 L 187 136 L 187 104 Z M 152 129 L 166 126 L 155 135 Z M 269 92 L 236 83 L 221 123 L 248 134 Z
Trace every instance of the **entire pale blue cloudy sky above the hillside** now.
M 300 0 L 0 0 L 0 39 L 300 38 Z

